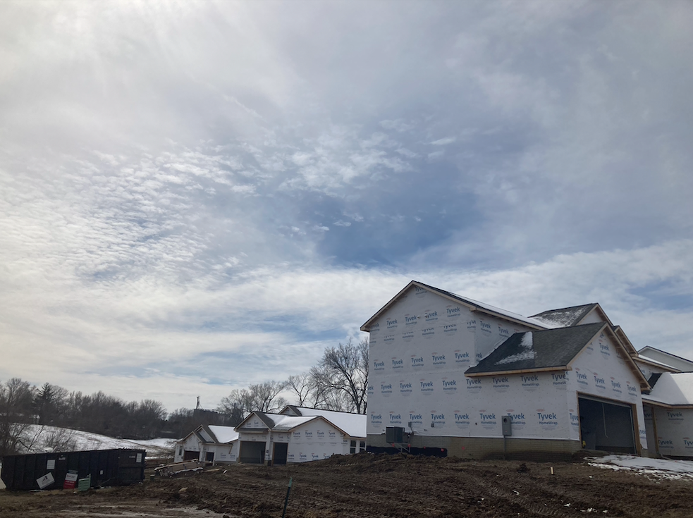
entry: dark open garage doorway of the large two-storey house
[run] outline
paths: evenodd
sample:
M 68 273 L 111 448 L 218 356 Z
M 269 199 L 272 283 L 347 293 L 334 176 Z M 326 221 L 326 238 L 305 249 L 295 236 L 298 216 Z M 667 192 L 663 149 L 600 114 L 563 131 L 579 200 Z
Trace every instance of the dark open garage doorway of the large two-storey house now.
M 632 406 L 585 396 L 578 403 L 584 448 L 637 454 Z

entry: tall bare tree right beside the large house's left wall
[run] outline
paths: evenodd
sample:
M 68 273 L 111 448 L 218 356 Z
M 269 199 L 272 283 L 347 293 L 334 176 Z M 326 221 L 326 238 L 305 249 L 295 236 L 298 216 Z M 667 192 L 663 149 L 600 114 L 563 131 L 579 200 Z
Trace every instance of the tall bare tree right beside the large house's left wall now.
M 357 345 L 328 347 L 318 366 L 311 369 L 321 405 L 346 405 L 349 412 L 366 413 L 368 339 Z

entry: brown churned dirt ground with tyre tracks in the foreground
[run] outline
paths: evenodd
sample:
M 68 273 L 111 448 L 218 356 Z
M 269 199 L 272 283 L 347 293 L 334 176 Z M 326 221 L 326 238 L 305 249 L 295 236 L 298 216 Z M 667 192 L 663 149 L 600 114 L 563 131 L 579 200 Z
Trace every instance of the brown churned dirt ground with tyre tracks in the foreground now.
M 290 518 L 693 517 L 692 481 L 579 461 L 523 464 L 370 454 L 277 467 L 230 464 L 87 493 L 0 491 L 0 516 L 281 517 L 290 478 Z

